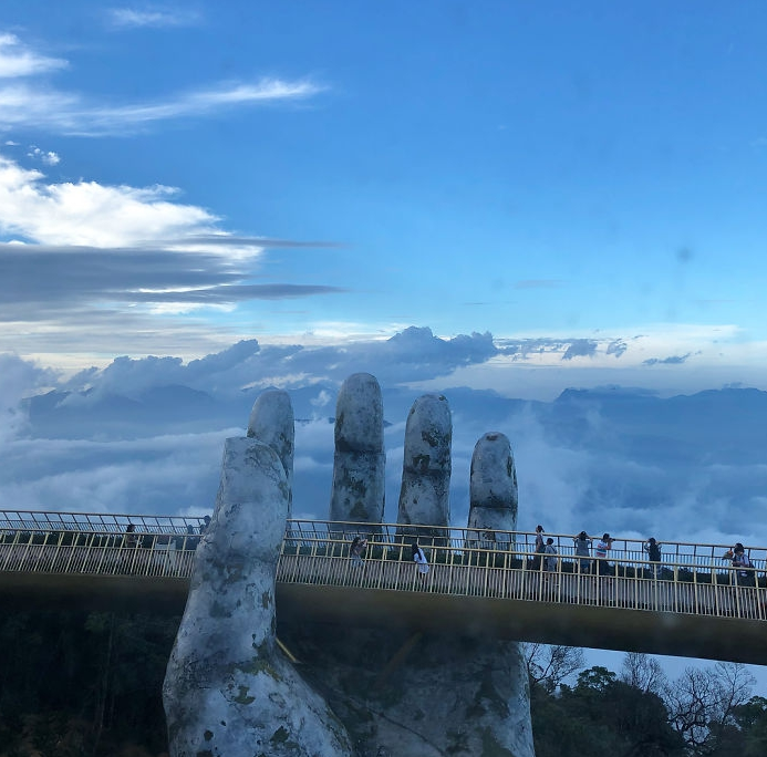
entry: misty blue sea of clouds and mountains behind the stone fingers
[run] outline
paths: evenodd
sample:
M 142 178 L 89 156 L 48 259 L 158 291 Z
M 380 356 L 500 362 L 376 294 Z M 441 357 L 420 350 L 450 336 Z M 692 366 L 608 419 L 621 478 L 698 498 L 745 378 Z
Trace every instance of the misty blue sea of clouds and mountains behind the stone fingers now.
M 344 346 L 256 340 L 184 363 L 117 357 L 66 380 L 0 356 L 0 501 L 4 509 L 199 515 L 218 488 L 224 439 L 245 433 L 265 388 L 287 390 L 296 426 L 294 515 L 327 517 L 338 390 L 352 373 L 381 383 L 386 518 L 396 519 L 412 403 L 429 391 L 453 411 L 454 525 L 466 523 L 474 445 L 506 434 L 520 530 L 654 535 L 661 541 L 767 543 L 767 393 L 713 388 L 661 397 L 641 388 L 567 388 L 550 402 L 456 385 L 456 370 L 499 351 L 489 334 L 444 340 L 407 329 Z M 435 388 L 438 387 L 438 388 Z

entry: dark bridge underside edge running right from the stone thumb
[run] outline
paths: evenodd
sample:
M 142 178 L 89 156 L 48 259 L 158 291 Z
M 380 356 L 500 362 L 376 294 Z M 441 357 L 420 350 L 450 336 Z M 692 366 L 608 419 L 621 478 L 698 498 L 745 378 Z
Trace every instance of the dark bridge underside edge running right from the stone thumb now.
M 767 664 L 764 623 L 733 618 L 419 592 L 278 584 L 278 621 L 319 621 Z

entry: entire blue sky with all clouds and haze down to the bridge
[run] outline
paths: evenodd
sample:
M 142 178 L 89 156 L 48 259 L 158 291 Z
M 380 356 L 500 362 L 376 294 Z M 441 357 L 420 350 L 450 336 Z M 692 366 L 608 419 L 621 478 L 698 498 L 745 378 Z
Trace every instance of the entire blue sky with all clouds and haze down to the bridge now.
M 749 0 L 3 0 L 2 501 L 206 511 L 281 386 L 324 502 L 367 371 L 390 507 L 445 392 L 457 519 L 499 429 L 520 528 L 767 545 L 759 396 L 722 414 L 767 390 L 766 74 Z M 727 433 L 556 403 L 605 386 Z

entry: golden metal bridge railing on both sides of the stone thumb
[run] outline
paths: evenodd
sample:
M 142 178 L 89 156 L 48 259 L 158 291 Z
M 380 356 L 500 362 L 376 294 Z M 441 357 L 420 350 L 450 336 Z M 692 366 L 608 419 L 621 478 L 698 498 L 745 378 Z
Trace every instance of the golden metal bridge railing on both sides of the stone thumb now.
M 128 523 L 135 531 L 126 532 Z M 200 518 L 64 512 L 0 512 L 0 572 L 189 579 Z M 351 559 L 355 535 L 367 546 Z M 643 543 L 620 539 L 608 559 L 574 554 L 573 537 L 552 535 L 557 554 L 535 552 L 535 535 L 396 523 L 290 520 L 280 582 L 429 592 L 518 601 L 767 619 L 765 548 L 749 547 L 739 571 L 724 545 L 663 545 L 661 562 Z M 414 541 L 429 563 L 413 562 Z M 595 541 L 595 540 L 594 540 Z

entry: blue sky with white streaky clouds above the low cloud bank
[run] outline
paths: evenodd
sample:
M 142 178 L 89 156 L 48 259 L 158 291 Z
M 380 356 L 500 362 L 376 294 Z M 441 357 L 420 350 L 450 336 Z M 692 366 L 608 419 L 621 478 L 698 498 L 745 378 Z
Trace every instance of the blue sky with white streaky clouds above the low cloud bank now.
M 761 385 L 766 51 L 761 2 L 7 0 L 0 351 L 417 325 Z

